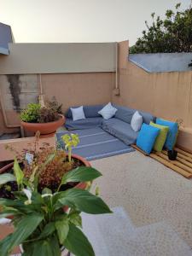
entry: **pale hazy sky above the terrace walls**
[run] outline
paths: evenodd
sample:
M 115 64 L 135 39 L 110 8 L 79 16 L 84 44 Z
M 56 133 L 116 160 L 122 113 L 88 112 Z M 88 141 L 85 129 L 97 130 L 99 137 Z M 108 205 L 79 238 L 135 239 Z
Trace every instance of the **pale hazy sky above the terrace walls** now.
M 15 43 L 119 42 L 135 44 L 150 14 L 190 0 L 0 0 L 0 22 Z

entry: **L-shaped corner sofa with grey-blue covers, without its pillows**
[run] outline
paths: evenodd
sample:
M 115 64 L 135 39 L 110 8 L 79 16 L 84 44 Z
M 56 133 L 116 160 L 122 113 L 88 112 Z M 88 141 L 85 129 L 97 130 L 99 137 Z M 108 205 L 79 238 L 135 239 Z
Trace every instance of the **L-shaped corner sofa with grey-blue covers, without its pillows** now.
M 123 141 L 127 145 L 136 143 L 138 132 L 133 131 L 131 128 L 132 115 L 137 111 L 133 108 L 125 108 L 118 105 L 114 105 L 117 108 L 112 119 L 103 119 L 98 113 L 105 104 L 95 106 L 84 106 L 84 115 L 86 119 L 73 121 L 72 112 L 70 108 L 66 113 L 66 128 L 67 130 L 81 130 L 90 129 L 99 126 L 104 131 L 112 134 L 114 137 L 118 137 L 119 140 Z M 154 121 L 155 118 L 152 114 L 146 113 L 139 110 L 139 113 L 143 116 L 143 123 L 149 124 L 150 121 Z

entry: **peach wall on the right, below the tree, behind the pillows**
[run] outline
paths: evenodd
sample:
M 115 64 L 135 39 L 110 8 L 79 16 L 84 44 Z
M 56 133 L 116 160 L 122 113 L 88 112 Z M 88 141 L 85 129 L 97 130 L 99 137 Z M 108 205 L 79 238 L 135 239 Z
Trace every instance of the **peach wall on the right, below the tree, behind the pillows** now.
M 192 149 L 192 72 L 147 73 L 127 61 L 128 47 L 128 41 L 119 44 L 120 96 L 113 96 L 113 102 L 172 121 L 183 119 L 178 143 Z

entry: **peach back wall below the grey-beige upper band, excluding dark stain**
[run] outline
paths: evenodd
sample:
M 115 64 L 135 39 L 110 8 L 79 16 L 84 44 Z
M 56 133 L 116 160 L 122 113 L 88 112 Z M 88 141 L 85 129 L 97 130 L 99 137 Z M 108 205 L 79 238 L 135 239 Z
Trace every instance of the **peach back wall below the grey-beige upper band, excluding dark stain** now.
M 9 125 L 20 124 L 19 112 L 14 109 L 13 96 L 9 90 L 9 81 L 6 75 L 0 75 L 0 94 Z M 25 108 L 30 102 L 37 102 L 39 76 L 36 74 L 20 75 L 20 108 Z M 114 87 L 114 73 L 60 73 L 42 74 L 42 87 L 45 99 L 55 96 L 63 105 L 63 111 L 78 105 L 106 103 L 112 100 Z M 15 129 L 18 130 L 18 129 Z M 12 132 L 3 121 L 0 109 L 0 133 Z

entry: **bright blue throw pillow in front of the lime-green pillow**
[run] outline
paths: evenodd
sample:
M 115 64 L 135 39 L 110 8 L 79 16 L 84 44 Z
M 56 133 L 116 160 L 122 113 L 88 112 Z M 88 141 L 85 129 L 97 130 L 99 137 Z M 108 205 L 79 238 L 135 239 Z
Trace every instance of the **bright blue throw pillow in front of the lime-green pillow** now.
M 141 148 L 147 154 L 150 154 L 159 133 L 159 128 L 143 124 L 137 137 L 137 147 Z

